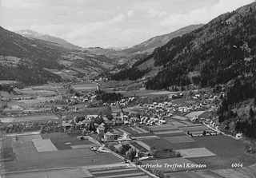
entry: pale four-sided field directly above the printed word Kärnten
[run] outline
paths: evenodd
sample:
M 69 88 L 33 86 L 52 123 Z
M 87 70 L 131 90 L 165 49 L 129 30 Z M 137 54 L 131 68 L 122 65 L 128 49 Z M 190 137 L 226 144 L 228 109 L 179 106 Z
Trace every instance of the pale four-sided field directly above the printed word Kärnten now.
M 182 154 L 184 158 L 190 157 L 205 157 L 205 156 L 216 156 L 213 152 L 210 152 L 206 148 L 188 148 L 188 149 L 178 149 L 177 152 Z

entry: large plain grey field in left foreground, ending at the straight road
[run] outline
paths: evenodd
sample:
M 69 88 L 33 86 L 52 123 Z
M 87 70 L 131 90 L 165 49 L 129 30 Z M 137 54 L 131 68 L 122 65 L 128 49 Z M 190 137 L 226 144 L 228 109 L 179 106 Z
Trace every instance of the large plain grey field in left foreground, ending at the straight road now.
M 49 168 L 70 168 L 90 165 L 115 164 L 122 160 L 110 153 L 97 154 L 90 148 L 54 152 L 18 154 L 14 161 L 5 162 L 2 172 L 19 172 Z

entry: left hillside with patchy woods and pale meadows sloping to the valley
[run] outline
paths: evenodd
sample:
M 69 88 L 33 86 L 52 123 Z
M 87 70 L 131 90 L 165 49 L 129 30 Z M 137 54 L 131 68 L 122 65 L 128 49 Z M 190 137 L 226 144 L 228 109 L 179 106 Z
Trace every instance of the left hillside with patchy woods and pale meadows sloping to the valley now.
M 115 62 L 105 55 L 25 38 L 0 27 L 0 80 L 38 85 L 48 81 L 88 79 L 111 69 Z

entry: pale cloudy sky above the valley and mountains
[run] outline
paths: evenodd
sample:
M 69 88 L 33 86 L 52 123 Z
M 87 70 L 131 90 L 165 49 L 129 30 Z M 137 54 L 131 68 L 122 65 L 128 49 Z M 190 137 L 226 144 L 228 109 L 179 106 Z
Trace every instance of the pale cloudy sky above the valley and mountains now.
M 82 47 L 138 45 L 254 0 L 0 0 L 0 26 Z

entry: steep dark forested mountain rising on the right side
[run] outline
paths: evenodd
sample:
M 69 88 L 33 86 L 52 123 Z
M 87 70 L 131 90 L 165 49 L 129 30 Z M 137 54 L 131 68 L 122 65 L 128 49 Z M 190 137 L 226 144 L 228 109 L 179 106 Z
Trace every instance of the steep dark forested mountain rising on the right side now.
M 256 2 L 242 6 L 197 30 L 171 39 L 154 53 L 136 61 L 129 71 L 121 71 L 113 78 L 136 80 L 148 76 L 146 89 L 176 90 L 189 89 L 191 84 L 213 87 L 238 77 L 254 76 L 255 6 Z M 146 73 L 151 73 L 150 77 Z

